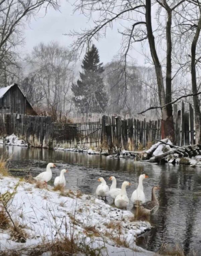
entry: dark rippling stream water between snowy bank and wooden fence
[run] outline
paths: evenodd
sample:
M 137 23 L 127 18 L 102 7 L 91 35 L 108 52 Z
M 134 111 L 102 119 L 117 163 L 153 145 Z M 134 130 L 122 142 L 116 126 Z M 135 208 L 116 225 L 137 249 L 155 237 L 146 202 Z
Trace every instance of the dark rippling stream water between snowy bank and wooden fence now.
M 0 154 L 3 151 L 7 151 L 12 156 L 10 168 L 30 168 L 33 176 L 44 171 L 49 162 L 57 165 L 57 168 L 53 169 L 52 181 L 59 175 L 61 169 L 67 168 L 69 172 L 65 174 L 66 187 L 89 194 L 95 193 L 99 176 L 108 179 L 109 176 L 114 175 L 118 187 L 121 187 L 125 180 L 132 183 L 127 189 L 130 198 L 136 189 L 137 177 L 142 172 L 147 173 L 149 178 L 143 181 L 146 199 L 151 198 L 152 186 L 159 185 L 160 207 L 150 219 L 153 228 L 139 237 L 137 244 L 148 250 L 157 251 L 162 243 L 179 242 L 186 253 L 194 249 L 198 255 L 201 255 L 201 168 L 172 164 L 135 165 L 133 160 L 128 159 L 119 160 L 86 153 L 0 145 Z M 18 175 L 23 176 L 27 173 L 27 170 L 20 171 Z M 111 184 L 110 181 L 107 183 Z M 112 204 L 111 201 L 108 203 Z

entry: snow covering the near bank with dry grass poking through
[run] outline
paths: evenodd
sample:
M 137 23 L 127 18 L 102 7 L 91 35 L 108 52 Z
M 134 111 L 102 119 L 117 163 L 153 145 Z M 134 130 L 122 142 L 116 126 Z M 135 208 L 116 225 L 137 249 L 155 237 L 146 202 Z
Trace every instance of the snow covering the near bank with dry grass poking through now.
M 1 251 L 30 248 L 44 241 L 70 236 L 73 226 L 74 234 L 80 241 L 85 239 L 93 248 L 105 248 L 102 249 L 103 255 L 155 255 L 136 246 L 136 236 L 151 226 L 145 221 L 130 221 L 133 216 L 130 211 L 113 208 L 92 195 L 66 190 L 62 196 L 51 186 L 38 189 L 35 184 L 14 177 L 0 176 L 1 195 L 6 191 L 12 192 L 18 182 L 17 193 L 8 210 L 14 221 L 25 226 L 29 238 L 25 243 L 17 243 L 10 239 L 9 230 L 0 230 Z M 120 229 L 108 228 L 109 223 L 119 224 Z M 90 227 L 95 228 L 96 235 L 94 231 L 88 231 Z M 117 237 L 125 240 L 129 248 L 119 247 L 115 242 Z M 136 249 L 138 252 L 135 252 Z

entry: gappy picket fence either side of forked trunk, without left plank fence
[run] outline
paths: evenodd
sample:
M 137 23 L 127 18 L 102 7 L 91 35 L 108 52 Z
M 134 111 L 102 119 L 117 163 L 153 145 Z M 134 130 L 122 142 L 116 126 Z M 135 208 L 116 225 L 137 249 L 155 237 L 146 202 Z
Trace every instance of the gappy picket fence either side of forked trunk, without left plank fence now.
M 184 102 L 175 104 L 173 116 L 176 144 L 194 144 L 192 106 L 188 104 L 185 109 Z M 53 147 L 117 147 L 134 151 L 146 147 L 147 144 L 157 143 L 157 140 L 161 139 L 161 120 L 146 120 L 142 117 L 126 119 L 120 115 L 103 115 L 98 121 L 96 119 L 93 122 L 53 123 L 51 137 Z

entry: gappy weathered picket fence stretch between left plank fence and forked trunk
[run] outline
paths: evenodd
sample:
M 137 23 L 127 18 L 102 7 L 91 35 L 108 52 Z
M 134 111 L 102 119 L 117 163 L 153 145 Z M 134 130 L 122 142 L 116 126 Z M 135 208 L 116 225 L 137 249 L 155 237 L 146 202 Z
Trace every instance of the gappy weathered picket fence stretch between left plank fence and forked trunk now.
M 52 147 L 100 148 L 116 146 L 135 150 L 161 138 L 161 120 L 122 119 L 121 116 L 102 116 L 96 122 L 52 124 Z

